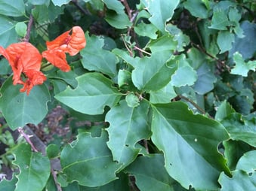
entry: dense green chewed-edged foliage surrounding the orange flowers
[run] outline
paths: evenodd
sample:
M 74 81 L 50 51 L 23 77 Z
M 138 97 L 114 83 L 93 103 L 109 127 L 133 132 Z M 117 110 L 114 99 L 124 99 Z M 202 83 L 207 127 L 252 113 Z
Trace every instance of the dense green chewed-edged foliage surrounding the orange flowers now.
M 29 14 L 39 50 L 74 25 L 87 41 L 67 56 L 71 71 L 45 68 L 48 80 L 29 95 L 0 60 L 8 126 L 40 123 L 54 105 L 103 122 L 50 144 L 46 156 L 17 144 L 19 172 L 0 189 L 252 190 L 255 8 L 250 0 L 0 0 L 2 47 L 26 35 Z

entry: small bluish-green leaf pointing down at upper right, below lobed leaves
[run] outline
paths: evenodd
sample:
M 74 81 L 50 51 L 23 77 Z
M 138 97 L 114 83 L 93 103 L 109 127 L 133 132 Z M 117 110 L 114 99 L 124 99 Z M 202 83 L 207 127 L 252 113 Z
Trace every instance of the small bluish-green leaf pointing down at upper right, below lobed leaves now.
M 235 35 L 229 31 L 220 31 L 217 35 L 217 45 L 221 52 L 224 53 L 232 48 L 232 44 L 235 41 Z

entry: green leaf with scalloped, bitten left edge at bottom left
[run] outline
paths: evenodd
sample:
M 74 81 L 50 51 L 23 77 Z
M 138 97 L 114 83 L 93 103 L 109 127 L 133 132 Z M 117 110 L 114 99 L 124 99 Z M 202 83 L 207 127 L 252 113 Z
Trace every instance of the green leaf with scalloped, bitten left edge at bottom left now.
M 16 191 L 41 191 L 51 173 L 50 161 L 42 153 L 32 153 L 29 144 L 19 144 L 14 150 L 14 164 L 20 168 Z

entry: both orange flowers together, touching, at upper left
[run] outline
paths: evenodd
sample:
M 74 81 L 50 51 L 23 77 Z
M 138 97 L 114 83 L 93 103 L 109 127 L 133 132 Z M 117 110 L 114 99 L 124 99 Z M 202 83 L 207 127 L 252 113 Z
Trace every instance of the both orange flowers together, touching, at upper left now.
M 32 87 L 40 85 L 46 80 L 45 74 L 40 71 L 42 57 L 51 62 L 62 71 L 69 71 L 70 67 L 66 62 L 66 54 L 74 56 L 85 47 L 85 33 L 79 26 L 72 28 L 72 34 L 69 35 L 71 30 L 64 32 L 62 35 L 54 39 L 54 41 L 47 41 L 47 49 L 42 55 L 39 53 L 32 44 L 29 42 L 20 42 L 11 44 L 4 49 L 0 46 L 0 54 L 8 59 L 11 68 L 14 72 L 13 83 L 23 84 L 20 92 L 25 92 L 29 95 Z M 23 80 L 21 75 L 24 74 L 26 79 Z

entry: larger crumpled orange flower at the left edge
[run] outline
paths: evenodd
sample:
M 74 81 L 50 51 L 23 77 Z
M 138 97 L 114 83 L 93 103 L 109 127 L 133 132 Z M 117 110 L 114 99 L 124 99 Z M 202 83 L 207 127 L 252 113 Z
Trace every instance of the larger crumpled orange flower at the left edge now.
M 44 83 L 45 75 L 40 71 L 42 56 L 32 44 L 29 42 L 20 42 L 11 44 L 4 49 L 0 47 L 0 54 L 8 59 L 14 72 L 14 85 L 23 84 L 20 92 L 29 95 L 33 86 Z M 23 80 L 21 74 L 25 74 L 26 80 Z

